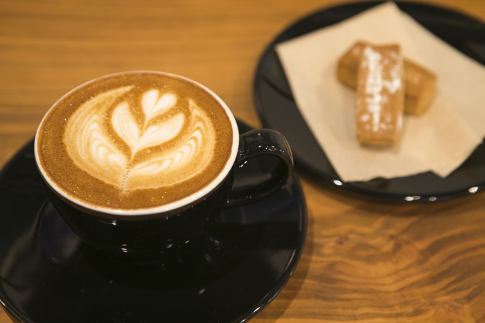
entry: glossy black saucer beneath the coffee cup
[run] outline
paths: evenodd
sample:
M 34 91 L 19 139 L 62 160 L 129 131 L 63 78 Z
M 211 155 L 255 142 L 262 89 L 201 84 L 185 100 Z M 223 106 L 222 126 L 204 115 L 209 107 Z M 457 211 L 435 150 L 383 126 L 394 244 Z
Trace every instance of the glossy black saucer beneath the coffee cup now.
M 163 265 L 124 264 L 64 225 L 29 142 L 0 173 L 0 304 L 23 322 L 243 322 L 292 275 L 306 221 L 294 177 L 267 199 L 223 210 Z

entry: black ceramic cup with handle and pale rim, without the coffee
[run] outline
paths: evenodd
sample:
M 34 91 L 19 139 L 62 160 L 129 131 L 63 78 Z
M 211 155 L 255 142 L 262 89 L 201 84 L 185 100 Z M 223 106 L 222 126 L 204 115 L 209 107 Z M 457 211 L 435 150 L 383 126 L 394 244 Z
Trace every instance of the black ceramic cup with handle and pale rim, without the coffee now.
M 90 207 L 62 194 L 56 184 L 46 176 L 39 161 L 37 131 L 35 157 L 39 172 L 48 187 L 51 202 L 69 228 L 87 245 L 109 256 L 130 262 L 149 263 L 166 259 L 197 241 L 220 214 L 222 207 L 265 198 L 280 190 L 290 179 L 293 169 L 292 153 L 281 133 L 258 129 L 240 134 L 227 105 L 215 93 L 202 87 L 224 106 L 231 120 L 231 156 L 227 167 L 211 185 L 195 192 L 190 199 L 175 204 L 112 212 Z M 266 163 L 267 158 L 273 159 L 270 164 L 274 167 L 263 168 L 265 176 L 261 176 L 261 172 L 256 176 L 245 172 L 245 165 L 248 163 Z

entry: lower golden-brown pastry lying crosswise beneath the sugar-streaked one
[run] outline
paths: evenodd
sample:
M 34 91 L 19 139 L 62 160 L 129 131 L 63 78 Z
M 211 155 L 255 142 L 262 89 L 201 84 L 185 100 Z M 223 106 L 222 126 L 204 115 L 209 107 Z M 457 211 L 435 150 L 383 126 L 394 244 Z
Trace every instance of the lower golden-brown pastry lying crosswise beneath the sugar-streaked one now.
M 355 89 L 360 56 L 365 46 L 372 46 L 365 41 L 357 41 L 340 57 L 337 65 L 337 79 Z M 405 75 L 405 113 L 420 115 L 430 105 L 436 95 L 437 77 L 432 71 L 404 59 Z

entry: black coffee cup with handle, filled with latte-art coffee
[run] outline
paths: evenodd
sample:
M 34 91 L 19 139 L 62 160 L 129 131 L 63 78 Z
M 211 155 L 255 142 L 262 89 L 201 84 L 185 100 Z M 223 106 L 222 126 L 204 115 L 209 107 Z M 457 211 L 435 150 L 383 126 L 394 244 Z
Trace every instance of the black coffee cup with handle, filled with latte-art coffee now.
M 245 165 L 268 157 L 274 169 L 236 189 L 251 176 Z M 130 262 L 182 252 L 223 207 L 273 194 L 293 167 L 281 133 L 240 134 L 213 91 L 155 71 L 105 75 L 63 95 L 39 124 L 35 160 L 69 228 Z

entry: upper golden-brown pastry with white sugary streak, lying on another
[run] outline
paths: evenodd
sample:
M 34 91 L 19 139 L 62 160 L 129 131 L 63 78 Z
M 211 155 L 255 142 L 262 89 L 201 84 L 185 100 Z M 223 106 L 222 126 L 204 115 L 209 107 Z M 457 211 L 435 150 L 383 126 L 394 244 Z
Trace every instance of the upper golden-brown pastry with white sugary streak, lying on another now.
M 356 80 L 355 125 L 362 145 L 389 147 L 400 139 L 405 77 L 399 45 L 364 46 Z

